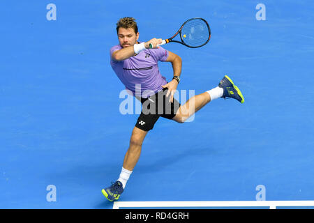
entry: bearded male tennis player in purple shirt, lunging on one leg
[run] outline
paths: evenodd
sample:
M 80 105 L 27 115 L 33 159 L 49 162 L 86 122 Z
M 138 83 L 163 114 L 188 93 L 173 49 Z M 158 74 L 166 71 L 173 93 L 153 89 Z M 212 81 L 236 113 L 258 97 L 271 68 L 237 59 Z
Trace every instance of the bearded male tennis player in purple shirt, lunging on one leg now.
M 142 102 L 142 112 L 133 128 L 119 178 L 110 187 L 102 190 L 109 201 L 119 199 L 124 192 L 130 174 L 140 158 L 144 138 L 154 128 L 160 116 L 184 123 L 204 105 L 217 98 L 234 98 L 244 102 L 241 91 L 230 77 L 225 76 L 214 89 L 195 95 L 184 105 L 180 105 L 174 98 L 181 75 L 180 56 L 158 47 L 162 42 L 159 38 L 140 42 L 140 33 L 133 17 L 119 20 L 117 35 L 119 44 L 110 49 L 110 64 L 126 89 Z M 153 49 L 149 49 L 150 43 L 154 46 Z M 172 64 L 173 77 L 170 82 L 160 74 L 158 61 Z

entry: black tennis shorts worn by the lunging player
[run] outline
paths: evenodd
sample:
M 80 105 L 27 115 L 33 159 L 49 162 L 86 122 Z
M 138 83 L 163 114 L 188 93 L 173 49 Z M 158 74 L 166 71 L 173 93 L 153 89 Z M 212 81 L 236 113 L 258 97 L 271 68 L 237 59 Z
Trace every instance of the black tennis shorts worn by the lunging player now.
M 144 131 L 154 128 L 158 118 L 172 119 L 180 107 L 180 103 L 173 98 L 173 102 L 169 102 L 171 94 L 167 95 L 168 89 L 165 88 L 158 93 L 149 96 L 149 98 L 140 98 L 142 103 L 142 112 L 137 118 L 135 126 Z

